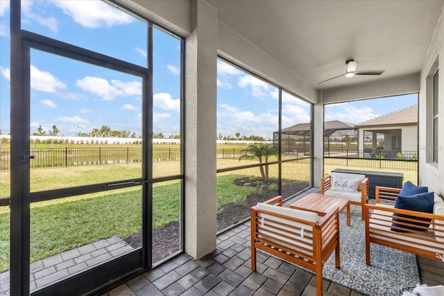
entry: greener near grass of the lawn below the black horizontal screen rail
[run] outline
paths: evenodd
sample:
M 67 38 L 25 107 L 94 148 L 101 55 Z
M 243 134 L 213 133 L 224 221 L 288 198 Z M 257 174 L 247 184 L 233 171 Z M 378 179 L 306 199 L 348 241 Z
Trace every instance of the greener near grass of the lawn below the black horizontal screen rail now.
M 218 177 L 218 207 L 239 202 L 255 191 L 234 185 L 238 177 L 243 175 Z M 178 181 L 154 184 L 154 229 L 179 220 L 179 189 Z M 101 238 L 136 234 L 142 225 L 141 196 L 137 187 L 31 204 L 31 262 Z M 0 272 L 9 268 L 9 214 L 8 207 L 0 207 Z

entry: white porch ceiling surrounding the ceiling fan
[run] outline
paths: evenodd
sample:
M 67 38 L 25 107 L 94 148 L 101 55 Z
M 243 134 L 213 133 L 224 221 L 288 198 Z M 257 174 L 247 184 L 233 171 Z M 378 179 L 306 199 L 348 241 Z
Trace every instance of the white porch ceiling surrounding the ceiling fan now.
M 419 73 L 437 21 L 440 1 L 207 0 L 219 20 L 316 89 Z M 357 71 L 342 76 L 345 60 Z

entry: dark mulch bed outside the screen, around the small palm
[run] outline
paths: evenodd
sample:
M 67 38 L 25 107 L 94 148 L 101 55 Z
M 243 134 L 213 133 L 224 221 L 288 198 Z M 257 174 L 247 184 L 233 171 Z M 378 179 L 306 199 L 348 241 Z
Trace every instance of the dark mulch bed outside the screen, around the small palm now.
M 247 185 L 244 185 L 246 183 Z M 291 181 L 282 183 L 282 195 L 284 197 L 302 191 L 309 186 L 309 182 Z M 234 184 L 238 186 L 257 186 L 257 184 L 259 184 L 262 191 L 260 194 L 253 193 L 252 195 L 248 195 L 243 202 L 223 205 L 218 211 L 219 214 L 217 214 L 217 231 L 221 231 L 248 218 L 250 216 L 250 208 L 257 204 L 257 202 L 263 202 L 278 195 L 277 191 L 268 189 L 268 186 L 271 184 L 278 184 L 277 180 L 266 180 L 262 178 L 250 180 L 249 177 L 244 177 L 234 180 Z M 178 221 L 173 221 L 161 229 L 153 230 L 153 263 L 180 250 L 179 236 L 180 224 Z M 125 241 L 132 247 L 141 247 L 142 234 L 139 232 L 126 238 Z

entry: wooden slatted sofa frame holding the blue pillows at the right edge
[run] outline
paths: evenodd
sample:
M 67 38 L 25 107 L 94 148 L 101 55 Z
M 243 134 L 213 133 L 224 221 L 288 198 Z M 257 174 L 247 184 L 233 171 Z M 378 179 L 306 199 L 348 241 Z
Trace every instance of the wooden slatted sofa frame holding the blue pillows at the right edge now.
M 398 250 L 410 252 L 431 259 L 438 259 L 437 254 L 444 254 L 444 230 L 434 230 L 435 226 L 444 227 L 444 216 L 422 213 L 420 211 L 409 211 L 404 209 L 395 209 L 395 199 L 401 189 L 390 187 L 375 187 L 376 204 L 365 205 L 365 223 L 366 223 L 366 263 L 370 265 L 370 243 L 377 243 L 387 247 L 393 247 Z M 391 229 L 400 229 L 392 225 L 393 214 L 409 215 L 407 217 L 397 216 L 397 225 L 406 225 L 423 229 L 416 231 L 409 229 L 408 232 L 395 232 Z M 413 218 L 413 217 L 414 218 Z M 414 223 L 424 223 L 423 220 L 416 218 L 429 218 L 432 220 L 431 228 L 415 225 Z M 405 230 L 405 229 L 404 229 Z M 436 238 L 440 241 L 437 241 Z

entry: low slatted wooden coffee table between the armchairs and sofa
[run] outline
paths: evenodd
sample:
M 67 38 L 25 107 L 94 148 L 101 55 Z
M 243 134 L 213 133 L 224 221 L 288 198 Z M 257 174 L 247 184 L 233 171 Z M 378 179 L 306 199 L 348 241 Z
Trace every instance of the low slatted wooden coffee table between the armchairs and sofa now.
M 336 196 L 321 193 L 309 193 L 303 198 L 292 202 L 291 209 L 314 211 L 319 216 L 324 216 L 330 211 L 339 208 L 339 213 L 347 208 L 347 225 L 350 226 L 350 198 L 337 198 Z

